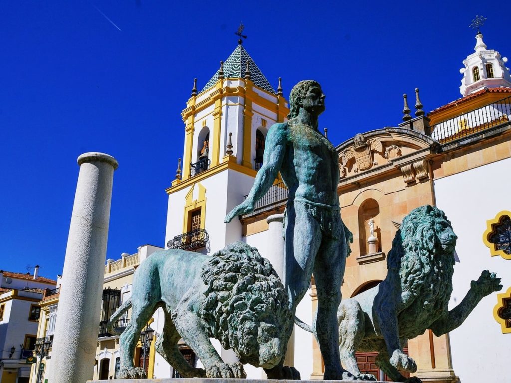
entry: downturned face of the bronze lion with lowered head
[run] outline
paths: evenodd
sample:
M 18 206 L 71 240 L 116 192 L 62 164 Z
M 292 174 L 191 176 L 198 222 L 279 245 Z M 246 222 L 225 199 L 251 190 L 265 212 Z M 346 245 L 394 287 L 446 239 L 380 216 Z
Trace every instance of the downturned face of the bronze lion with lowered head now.
M 277 327 L 270 323 L 245 322 L 240 327 L 239 344 L 235 351 L 241 363 L 273 368 L 282 359 L 284 347 Z

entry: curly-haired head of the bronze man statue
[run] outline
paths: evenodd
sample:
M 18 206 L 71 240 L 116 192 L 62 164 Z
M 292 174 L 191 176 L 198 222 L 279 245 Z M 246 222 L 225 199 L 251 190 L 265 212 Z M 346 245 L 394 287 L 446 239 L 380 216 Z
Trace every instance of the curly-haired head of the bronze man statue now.
M 291 89 L 288 118 L 296 117 L 300 108 L 317 115 L 324 111 L 324 94 L 317 81 L 300 81 Z

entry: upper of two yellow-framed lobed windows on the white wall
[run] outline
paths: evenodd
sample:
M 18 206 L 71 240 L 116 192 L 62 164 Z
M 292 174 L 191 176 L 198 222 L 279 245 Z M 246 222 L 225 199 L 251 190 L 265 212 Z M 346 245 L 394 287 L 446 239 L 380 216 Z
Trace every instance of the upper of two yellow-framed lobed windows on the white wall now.
M 504 259 L 511 259 L 511 212 L 501 211 L 495 219 L 486 221 L 482 241 L 490 249 L 492 257 L 500 255 Z

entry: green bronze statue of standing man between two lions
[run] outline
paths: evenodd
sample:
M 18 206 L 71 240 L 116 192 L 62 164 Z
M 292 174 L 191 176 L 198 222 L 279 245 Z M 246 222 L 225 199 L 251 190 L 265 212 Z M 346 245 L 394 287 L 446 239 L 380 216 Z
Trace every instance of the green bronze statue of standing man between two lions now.
M 338 154 L 318 131 L 324 94 L 316 81 L 300 81 L 291 90 L 289 120 L 274 124 L 266 138 L 264 163 L 246 200 L 225 217 L 251 212 L 280 171 L 289 188 L 285 220 L 285 281 L 292 313 L 307 293 L 314 273 L 318 309 L 314 333 L 324 360 L 324 379 L 353 378 L 340 363 L 337 308 L 346 262 L 346 234 L 339 208 Z M 292 329 L 290 329 L 292 330 Z M 299 378 L 282 365 L 269 378 Z M 291 375 L 291 376 L 290 376 Z

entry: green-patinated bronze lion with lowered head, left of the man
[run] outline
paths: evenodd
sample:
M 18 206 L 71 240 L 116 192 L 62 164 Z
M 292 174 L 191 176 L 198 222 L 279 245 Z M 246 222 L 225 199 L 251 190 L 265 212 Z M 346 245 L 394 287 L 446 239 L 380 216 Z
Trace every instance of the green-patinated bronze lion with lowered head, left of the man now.
M 289 340 L 293 316 L 288 295 L 270 262 L 257 249 L 237 242 L 213 256 L 164 250 L 144 260 L 133 275 L 131 299 L 110 318 L 115 323 L 131 306 L 120 338 L 121 378 L 145 377 L 133 366 L 141 330 L 158 307 L 165 312 L 156 350 L 185 377 L 245 377 L 242 363 L 271 369 Z M 110 328 L 110 332 L 113 330 Z M 182 338 L 204 369 L 190 366 L 177 348 Z M 232 348 L 241 363 L 224 363 L 209 338 Z

